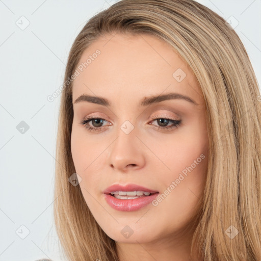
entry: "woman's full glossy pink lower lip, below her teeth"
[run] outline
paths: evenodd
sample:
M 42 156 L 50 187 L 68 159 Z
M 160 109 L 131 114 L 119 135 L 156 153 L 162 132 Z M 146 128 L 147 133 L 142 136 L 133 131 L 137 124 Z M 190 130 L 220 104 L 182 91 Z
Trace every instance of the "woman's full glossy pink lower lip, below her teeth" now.
M 151 201 L 153 201 L 159 193 L 154 193 L 150 196 L 143 196 L 134 199 L 118 199 L 112 196 L 111 194 L 105 194 L 105 199 L 107 203 L 119 211 L 137 211 L 140 208 L 148 205 Z

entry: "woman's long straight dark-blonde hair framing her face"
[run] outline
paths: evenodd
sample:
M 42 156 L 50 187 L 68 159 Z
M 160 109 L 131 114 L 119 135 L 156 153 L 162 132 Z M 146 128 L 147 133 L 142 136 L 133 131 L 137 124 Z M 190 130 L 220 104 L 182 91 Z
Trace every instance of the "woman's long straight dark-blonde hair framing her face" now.
M 75 173 L 70 138 L 72 85 L 83 51 L 100 36 L 150 34 L 188 63 L 206 103 L 210 140 L 207 178 L 192 253 L 205 261 L 261 260 L 261 102 L 257 80 L 238 35 L 193 0 L 123 0 L 93 16 L 71 47 L 61 96 L 54 215 L 69 260 L 119 260 L 116 243 L 99 227 Z M 233 234 L 233 237 L 230 235 Z

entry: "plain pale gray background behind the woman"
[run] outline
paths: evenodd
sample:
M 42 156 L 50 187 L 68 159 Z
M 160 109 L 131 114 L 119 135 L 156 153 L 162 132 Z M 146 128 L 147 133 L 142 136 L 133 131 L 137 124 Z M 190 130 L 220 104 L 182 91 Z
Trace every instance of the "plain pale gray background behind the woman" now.
M 65 260 L 53 225 L 60 96 L 53 102 L 47 96 L 62 85 L 76 35 L 91 16 L 115 2 L 0 0 L 0 261 Z M 233 16 L 234 25 L 239 22 L 234 30 L 260 83 L 261 0 L 198 2 L 225 19 Z M 27 20 L 29 26 L 21 30 Z M 16 128 L 21 121 L 29 125 L 24 134 Z

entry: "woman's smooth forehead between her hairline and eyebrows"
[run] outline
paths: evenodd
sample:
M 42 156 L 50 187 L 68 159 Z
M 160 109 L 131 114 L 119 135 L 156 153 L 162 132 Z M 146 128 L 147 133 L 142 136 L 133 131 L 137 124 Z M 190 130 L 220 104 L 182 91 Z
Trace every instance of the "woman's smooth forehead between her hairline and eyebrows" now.
M 73 101 L 84 93 L 110 100 L 117 93 L 126 100 L 178 92 L 202 102 L 191 68 L 172 46 L 148 34 L 103 36 L 85 49 L 76 70 Z

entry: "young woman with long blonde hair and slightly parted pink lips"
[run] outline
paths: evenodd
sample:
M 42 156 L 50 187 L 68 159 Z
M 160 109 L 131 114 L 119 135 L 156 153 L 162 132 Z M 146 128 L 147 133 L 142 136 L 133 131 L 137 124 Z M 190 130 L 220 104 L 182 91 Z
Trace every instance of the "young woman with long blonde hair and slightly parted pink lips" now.
M 69 260 L 260 260 L 260 97 L 238 35 L 193 0 L 123 0 L 92 17 L 59 117 Z

